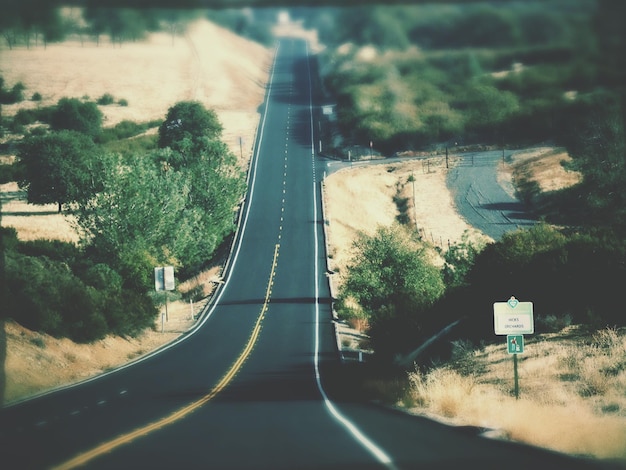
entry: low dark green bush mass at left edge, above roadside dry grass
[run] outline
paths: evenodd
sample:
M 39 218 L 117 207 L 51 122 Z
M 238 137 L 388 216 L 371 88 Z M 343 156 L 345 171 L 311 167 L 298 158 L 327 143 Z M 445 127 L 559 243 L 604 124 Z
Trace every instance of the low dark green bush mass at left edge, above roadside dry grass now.
M 145 290 L 123 287 L 122 276 L 92 265 L 69 243 L 20 243 L 0 232 L 6 252 L 4 314 L 21 325 L 86 343 L 106 334 L 135 335 L 153 325 L 157 311 Z

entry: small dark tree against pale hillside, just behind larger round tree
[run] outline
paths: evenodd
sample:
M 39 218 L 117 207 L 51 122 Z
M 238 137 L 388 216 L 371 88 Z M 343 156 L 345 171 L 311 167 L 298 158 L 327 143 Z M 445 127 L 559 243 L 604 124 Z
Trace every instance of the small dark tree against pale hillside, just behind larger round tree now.
M 50 118 L 54 130 L 72 130 L 91 137 L 102 130 L 102 112 L 96 103 L 77 98 L 61 98 Z

